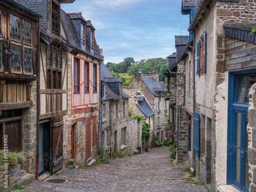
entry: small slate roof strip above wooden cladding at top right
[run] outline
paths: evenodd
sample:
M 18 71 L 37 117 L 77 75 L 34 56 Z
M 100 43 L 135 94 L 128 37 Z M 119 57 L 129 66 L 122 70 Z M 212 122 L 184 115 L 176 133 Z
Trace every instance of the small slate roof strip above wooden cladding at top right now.
M 225 36 L 256 43 L 256 34 L 251 34 L 254 26 L 256 26 L 256 23 L 224 24 Z

